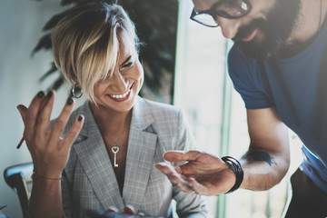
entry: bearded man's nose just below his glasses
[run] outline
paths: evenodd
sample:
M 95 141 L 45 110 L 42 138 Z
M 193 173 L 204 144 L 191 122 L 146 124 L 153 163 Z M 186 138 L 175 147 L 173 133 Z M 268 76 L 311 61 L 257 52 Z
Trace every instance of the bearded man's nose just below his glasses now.
M 227 19 L 222 16 L 216 16 L 216 22 L 221 26 L 223 37 L 232 39 L 237 35 L 241 25 L 240 19 Z

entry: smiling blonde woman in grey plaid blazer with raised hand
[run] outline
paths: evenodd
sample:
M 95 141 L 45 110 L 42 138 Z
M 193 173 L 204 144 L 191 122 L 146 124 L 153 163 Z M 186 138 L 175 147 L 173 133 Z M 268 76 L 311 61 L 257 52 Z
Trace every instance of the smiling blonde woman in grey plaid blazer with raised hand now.
M 124 9 L 79 6 L 52 39 L 54 63 L 87 101 L 72 113 L 69 98 L 54 122 L 54 91 L 18 106 L 35 166 L 31 217 L 84 217 L 84 210 L 112 206 L 123 212 L 127 204 L 136 213 L 172 217 L 173 199 L 180 217 L 205 217 L 202 196 L 179 191 L 155 169 L 164 152 L 194 149 L 193 136 L 181 110 L 138 96 L 144 70 Z

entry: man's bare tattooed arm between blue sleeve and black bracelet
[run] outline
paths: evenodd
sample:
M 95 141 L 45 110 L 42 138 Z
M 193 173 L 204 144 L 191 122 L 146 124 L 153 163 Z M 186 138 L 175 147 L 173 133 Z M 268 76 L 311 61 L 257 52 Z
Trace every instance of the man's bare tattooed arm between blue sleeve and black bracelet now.
M 250 147 L 240 162 L 241 188 L 267 190 L 281 182 L 290 165 L 288 128 L 274 108 L 247 110 Z

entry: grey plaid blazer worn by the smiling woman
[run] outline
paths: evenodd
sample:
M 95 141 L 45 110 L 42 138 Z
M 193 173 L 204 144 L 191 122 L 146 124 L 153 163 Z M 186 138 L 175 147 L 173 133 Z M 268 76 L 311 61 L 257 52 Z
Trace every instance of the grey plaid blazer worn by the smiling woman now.
M 66 217 L 84 217 L 84 210 L 106 210 L 125 204 L 151 216 L 172 217 L 172 199 L 179 217 L 206 217 L 203 196 L 183 193 L 155 168 L 168 150 L 194 149 L 193 136 L 181 110 L 137 97 L 129 132 L 123 196 L 89 102 L 71 115 L 64 134 L 78 114 L 84 126 L 70 152 L 62 177 Z

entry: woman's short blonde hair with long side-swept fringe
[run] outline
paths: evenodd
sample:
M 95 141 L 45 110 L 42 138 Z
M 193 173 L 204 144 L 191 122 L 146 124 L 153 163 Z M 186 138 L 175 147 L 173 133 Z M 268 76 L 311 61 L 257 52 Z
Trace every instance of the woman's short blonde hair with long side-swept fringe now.
M 113 74 L 120 31 L 129 36 L 137 53 L 134 23 L 123 7 L 101 2 L 76 6 L 54 28 L 54 64 L 66 83 L 81 86 L 92 101 L 94 85 Z

